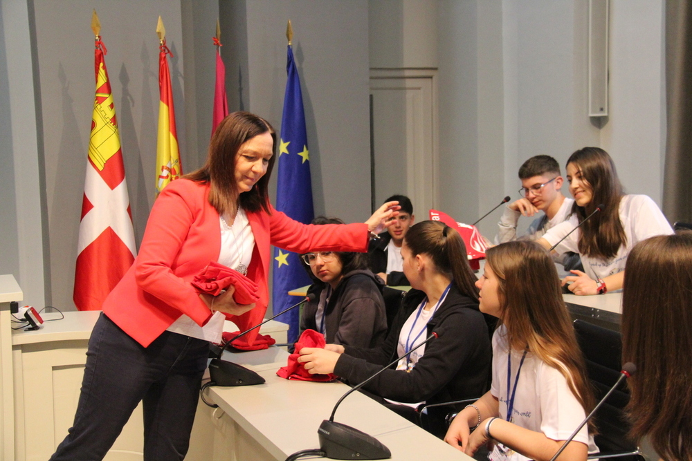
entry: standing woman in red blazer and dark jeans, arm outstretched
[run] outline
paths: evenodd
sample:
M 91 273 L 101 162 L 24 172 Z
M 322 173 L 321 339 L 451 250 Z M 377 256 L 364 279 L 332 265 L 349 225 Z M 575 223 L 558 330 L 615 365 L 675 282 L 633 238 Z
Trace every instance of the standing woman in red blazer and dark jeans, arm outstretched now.
M 100 460 L 143 401 L 144 459 L 188 451 L 209 340 L 224 316 L 241 329 L 268 303 L 270 245 L 292 252 L 365 252 L 369 232 L 397 214 L 387 203 L 363 224 L 303 225 L 273 209 L 268 182 L 276 135 L 257 115 L 224 119 L 206 164 L 158 196 L 134 264 L 113 288 L 89 339 L 82 393 L 69 435 L 51 460 Z M 210 262 L 245 273 L 259 300 L 237 304 L 233 287 L 213 297 L 191 285 Z M 217 313 L 219 312 L 219 313 Z M 248 339 L 252 343 L 256 332 Z

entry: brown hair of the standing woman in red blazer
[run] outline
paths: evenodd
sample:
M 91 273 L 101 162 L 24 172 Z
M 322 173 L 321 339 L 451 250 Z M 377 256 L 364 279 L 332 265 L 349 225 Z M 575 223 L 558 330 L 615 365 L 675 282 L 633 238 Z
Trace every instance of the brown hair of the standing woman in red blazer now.
M 233 112 L 221 120 L 209 143 L 207 161 L 203 167 L 183 178 L 210 184 L 209 203 L 219 214 L 235 216 L 238 205 L 246 211 L 260 209 L 271 213 L 268 185 L 276 155 L 271 156 L 266 173 L 250 191 L 239 194 L 235 180 L 235 164 L 240 146 L 257 135 L 270 133 L 272 152 L 276 153 L 276 133 L 271 124 L 249 112 Z

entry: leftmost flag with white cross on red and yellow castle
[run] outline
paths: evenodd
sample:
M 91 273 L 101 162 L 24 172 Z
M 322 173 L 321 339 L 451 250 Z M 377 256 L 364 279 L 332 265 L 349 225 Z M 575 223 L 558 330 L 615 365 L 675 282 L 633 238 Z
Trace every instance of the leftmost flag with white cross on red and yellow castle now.
M 98 18 L 95 23 L 98 24 Z M 136 254 L 116 109 L 103 59 L 106 47 L 97 30 L 94 29 L 96 93 L 73 293 L 78 310 L 100 310 Z

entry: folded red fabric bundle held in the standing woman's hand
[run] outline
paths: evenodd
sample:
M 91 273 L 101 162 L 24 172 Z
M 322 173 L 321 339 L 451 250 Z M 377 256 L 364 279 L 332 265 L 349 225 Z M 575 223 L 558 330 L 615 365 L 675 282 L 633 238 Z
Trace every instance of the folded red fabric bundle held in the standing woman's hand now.
M 202 272 L 194 276 L 192 286 L 200 293 L 219 296 L 222 291 L 233 285 L 235 293 L 233 299 L 238 304 L 252 304 L 260 300 L 260 289 L 257 283 L 248 279 L 235 269 L 212 261 Z

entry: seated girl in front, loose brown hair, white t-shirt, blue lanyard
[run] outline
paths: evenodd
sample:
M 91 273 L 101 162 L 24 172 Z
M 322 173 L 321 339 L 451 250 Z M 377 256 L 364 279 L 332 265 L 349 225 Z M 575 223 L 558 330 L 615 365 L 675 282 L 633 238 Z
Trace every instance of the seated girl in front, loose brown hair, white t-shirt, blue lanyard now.
M 481 312 L 500 319 L 493 382 L 455 417 L 445 441 L 467 455 L 494 442 L 493 461 L 549 460 L 594 406 L 557 271 L 531 241 L 503 243 L 486 258 L 476 286 Z M 586 460 L 590 451 L 597 447 L 584 426 L 558 460 Z

